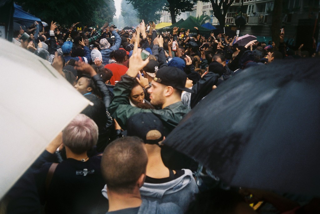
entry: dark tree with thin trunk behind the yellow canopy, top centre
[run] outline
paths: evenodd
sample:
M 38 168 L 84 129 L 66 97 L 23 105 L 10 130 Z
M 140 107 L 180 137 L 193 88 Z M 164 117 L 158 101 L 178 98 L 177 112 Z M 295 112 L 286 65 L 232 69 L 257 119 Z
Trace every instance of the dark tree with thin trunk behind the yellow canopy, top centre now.
M 171 23 L 176 23 L 177 15 L 180 15 L 183 12 L 192 11 L 194 6 L 193 0 L 167 0 L 168 3 L 165 3 L 163 10 L 170 12 Z

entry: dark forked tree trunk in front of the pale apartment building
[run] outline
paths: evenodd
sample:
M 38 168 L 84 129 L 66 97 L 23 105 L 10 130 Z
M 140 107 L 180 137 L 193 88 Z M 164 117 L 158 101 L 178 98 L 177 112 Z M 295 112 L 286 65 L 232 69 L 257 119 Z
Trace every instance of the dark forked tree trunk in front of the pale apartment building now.
M 212 4 L 213 15 L 218 19 L 220 28 L 224 28 L 226 25 L 226 15 L 228 8 L 233 4 L 235 0 L 210 0 Z M 203 2 L 209 2 L 209 0 L 203 0 Z M 221 12 L 222 7 L 222 12 Z

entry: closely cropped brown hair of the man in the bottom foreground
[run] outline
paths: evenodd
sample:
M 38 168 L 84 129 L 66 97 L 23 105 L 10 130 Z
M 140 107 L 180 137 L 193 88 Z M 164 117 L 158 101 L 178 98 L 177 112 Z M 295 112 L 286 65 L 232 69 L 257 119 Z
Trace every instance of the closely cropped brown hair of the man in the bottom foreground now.
M 103 152 L 101 173 L 108 189 L 118 193 L 132 193 L 143 173 L 148 156 L 143 140 L 123 137 L 111 142 Z

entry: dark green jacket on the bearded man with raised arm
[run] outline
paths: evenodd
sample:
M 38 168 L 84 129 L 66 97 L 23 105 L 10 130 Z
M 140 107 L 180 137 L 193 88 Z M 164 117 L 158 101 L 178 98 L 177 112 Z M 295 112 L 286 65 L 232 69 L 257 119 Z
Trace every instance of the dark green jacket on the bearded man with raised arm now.
M 133 107 L 129 103 L 129 95 L 131 93 L 132 85 L 135 78 L 128 75 L 123 75 L 121 81 L 116 83 L 113 89 L 114 97 L 108 108 L 110 114 L 119 125 L 126 129 L 126 122 L 132 115 L 140 112 L 151 112 L 155 114 L 163 122 L 165 127 L 165 134 L 170 133 L 180 122 L 184 115 L 186 115 L 190 109 L 185 107 L 181 101 L 173 103 L 163 109 L 142 109 Z

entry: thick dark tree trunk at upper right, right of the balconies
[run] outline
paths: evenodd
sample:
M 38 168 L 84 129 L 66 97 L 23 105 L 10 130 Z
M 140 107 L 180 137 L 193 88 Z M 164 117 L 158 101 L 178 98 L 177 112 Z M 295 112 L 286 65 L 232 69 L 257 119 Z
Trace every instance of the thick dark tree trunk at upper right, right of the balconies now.
M 280 42 L 280 30 L 282 28 L 282 1 L 274 1 L 273 12 L 272 12 L 272 25 L 271 35 L 272 41 L 275 42 L 276 47 L 279 47 Z

